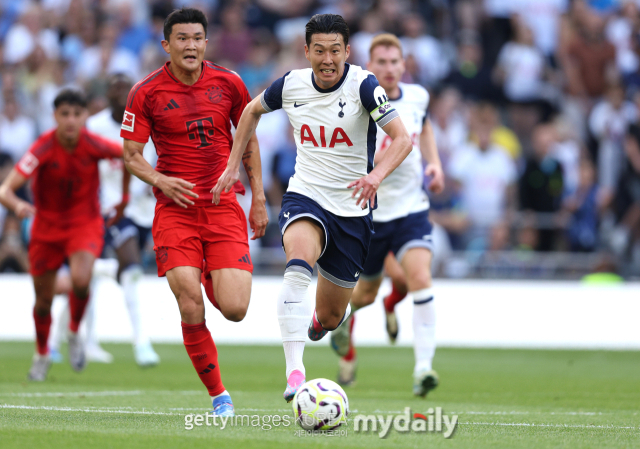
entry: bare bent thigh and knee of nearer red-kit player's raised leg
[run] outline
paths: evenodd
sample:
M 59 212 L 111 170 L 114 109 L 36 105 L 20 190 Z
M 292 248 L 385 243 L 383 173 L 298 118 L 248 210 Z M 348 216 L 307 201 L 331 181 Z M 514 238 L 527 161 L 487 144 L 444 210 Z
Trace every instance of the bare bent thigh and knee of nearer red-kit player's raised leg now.
M 251 272 L 238 268 L 214 270 L 211 283 L 224 317 L 230 321 L 242 321 L 251 299 Z

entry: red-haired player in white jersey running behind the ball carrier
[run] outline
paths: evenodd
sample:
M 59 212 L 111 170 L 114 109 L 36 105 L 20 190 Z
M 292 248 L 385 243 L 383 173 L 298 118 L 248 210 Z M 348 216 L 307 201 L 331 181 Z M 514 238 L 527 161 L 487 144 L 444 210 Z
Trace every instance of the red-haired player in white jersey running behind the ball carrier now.
M 371 239 L 371 251 L 362 275 L 351 296 L 351 307 L 355 312 L 374 302 L 382 282 L 386 257 L 391 259 L 387 261 L 387 267 L 395 268 L 397 261 L 400 262 L 402 272 L 395 278 L 406 279 L 414 304 L 416 363 L 413 393 L 425 396 L 438 385 L 438 375 L 431 368 L 435 353 L 435 310 L 431 290 L 432 226 L 429 222 L 429 198 L 422 186 L 426 175 L 431 177 L 429 190 L 441 192 L 444 174 L 427 114 L 429 93 L 417 84 L 400 82 L 405 70 L 400 40 L 392 34 L 379 34 L 371 42 L 369 55 L 371 60 L 367 68 L 388 92 L 392 107 L 398 111 L 411 134 L 413 150 L 378 189 L 379 205 L 373 212 L 376 233 Z M 385 136 L 378 137 L 375 162 L 381 164 L 392 156 L 387 154 L 391 142 Z M 424 175 L 422 158 L 427 162 Z M 395 255 L 397 261 L 393 256 L 388 256 L 389 252 Z M 398 270 L 396 268 L 393 271 Z M 395 296 L 400 294 L 396 292 Z M 390 334 L 397 335 L 395 315 L 387 315 Z M 351 320 L 353 316 L 331 335 L 332 347 L 344 356 L 340 360 L 338 375 L 338 381 L 342 384 L 353 381 L 356 369 L 355 349 L 350 338 L 353 327 Z

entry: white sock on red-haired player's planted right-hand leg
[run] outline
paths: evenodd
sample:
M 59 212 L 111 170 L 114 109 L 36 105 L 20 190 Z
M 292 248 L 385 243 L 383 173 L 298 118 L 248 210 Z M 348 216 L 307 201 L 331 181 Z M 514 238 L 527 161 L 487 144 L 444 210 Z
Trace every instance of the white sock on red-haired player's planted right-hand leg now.
M 411 292 L 413 297 L 413 350 L 416 358 L 414 373 L 431 369 L 436 352 L 436 310 L 433 290 L 425 288 Z

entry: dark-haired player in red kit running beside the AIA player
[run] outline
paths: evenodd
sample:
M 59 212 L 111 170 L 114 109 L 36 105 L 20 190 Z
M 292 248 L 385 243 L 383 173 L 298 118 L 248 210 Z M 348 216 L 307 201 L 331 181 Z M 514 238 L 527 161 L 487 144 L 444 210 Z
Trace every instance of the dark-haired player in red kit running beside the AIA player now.
M 154 186 L 158 276 L 167 277 L 178 302 L 185 348 L 213 400 L 214 414 L 233 416 L 205 323 L 200 283 L 201 277 L 211 283 L 211 302 L 217 301 L 226 319 L 244 318 L 253 272 L 246 218 L 233 191 L 214 205 L 211 189 L 229 159 L 231 123 L 238 124 L 251 98 L 236 73 L 204 60 L 206 34 L 207 19 L 197 9 L 182 8 L 167 17 L 162 46 L 170 61 L 131 89 L 121 136 L 127 168 Z M 142 157 L 149 136 L 158 153 L 155 170 Z M 268 220 L 255 135 L 242 159 L 253 194 L 249 223 L 256 239 Z

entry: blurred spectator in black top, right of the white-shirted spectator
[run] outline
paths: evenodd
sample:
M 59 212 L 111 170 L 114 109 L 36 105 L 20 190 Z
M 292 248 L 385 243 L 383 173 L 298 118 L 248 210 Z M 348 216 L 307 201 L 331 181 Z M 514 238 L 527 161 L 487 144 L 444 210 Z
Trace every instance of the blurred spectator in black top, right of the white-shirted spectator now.
M 551 156 L 556 143 L 553 125 L 540 124 L 532 134 L 533 157 L 526 162 L 520 177 L 520 208 L 531 212 L 558 212 L 562 205 L 563 173 L 560 162 Z M 555 230 L 544 223 L 540 232 L 540 251 L 551 251 L 555 243 Z

